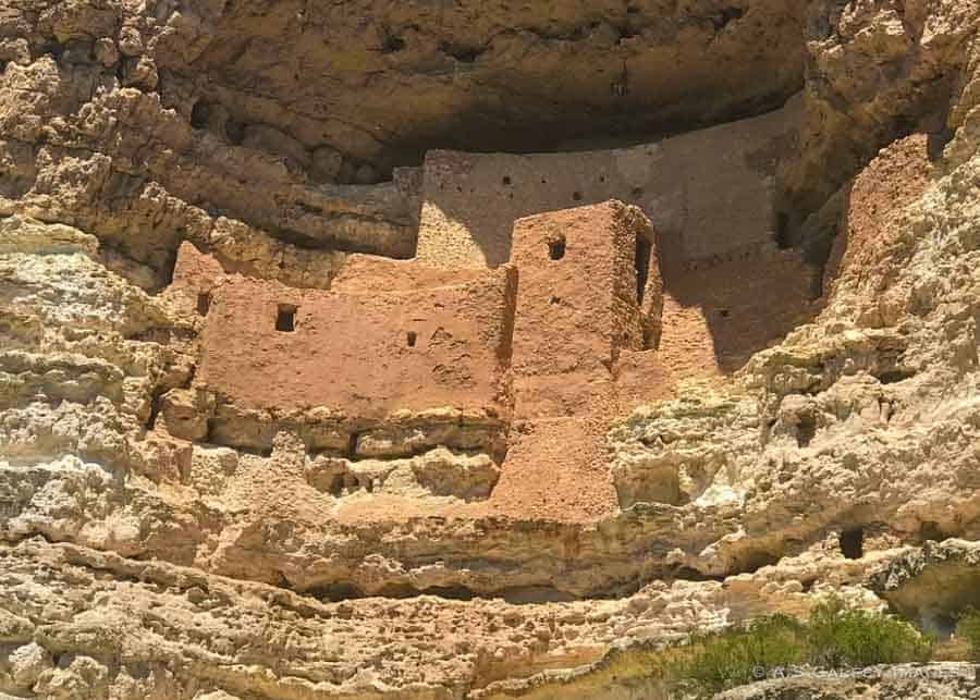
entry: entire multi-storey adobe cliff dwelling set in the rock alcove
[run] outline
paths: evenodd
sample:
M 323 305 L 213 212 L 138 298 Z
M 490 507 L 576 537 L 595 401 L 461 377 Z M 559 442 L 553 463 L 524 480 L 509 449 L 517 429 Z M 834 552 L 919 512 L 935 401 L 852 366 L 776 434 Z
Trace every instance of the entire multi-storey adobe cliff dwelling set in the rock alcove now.
M 816 311 L 821 270 L 780 243 L 773 186 L 797 111 L 618 150 L 431 152 L 396 173 L 417 255 L 351 255 L 319 288 L 184 243 L 170 288 L 197 300 L 189 391 L 209 408 L 189 432 L 161 426 L 265 455 L 286 431 L 343 472 L 482 460 L 480 488 L 419 482 L 400 509 L 453 496 L 574 520 L 628 505 L 605 466 L 610 421 L 720 381 Z M 363 480 L 381 502 L 404 491 Z M 648 496 L 688 498 L 675 471 L 658 480 Z

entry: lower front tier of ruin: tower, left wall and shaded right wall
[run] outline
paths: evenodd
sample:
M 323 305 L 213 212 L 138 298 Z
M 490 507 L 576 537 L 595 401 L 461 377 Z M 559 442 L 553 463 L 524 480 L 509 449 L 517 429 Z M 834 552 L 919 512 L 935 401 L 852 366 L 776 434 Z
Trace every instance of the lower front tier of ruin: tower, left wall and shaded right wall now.
M 817 286 L 795 251 L 769 244 L 662 269 L 650 243 L 640 305 L 637 242 L 656 237 L 641 210 L 608 201 L 517 221 L 513 265 L 351 255 L 330 291 L 228 274 L 183 246 L 174 287 L 211 298 L 195 380 L 219 398 L 208 439 L 266 450 L 285 426 L 308 449 L 354 457 L 416 432 L 427 446 L 468 440 L 501 463 L 489 512 L 600 516 L 616 505 L 611 420 L 731 371 L 788 330 Z M 293 332 L 275 330 L 282 304 L 297 307 Z M 290 423 L 313 407 L 316 426 Z M 476 421 L 468 437 L 450 435 L 452 412 Z

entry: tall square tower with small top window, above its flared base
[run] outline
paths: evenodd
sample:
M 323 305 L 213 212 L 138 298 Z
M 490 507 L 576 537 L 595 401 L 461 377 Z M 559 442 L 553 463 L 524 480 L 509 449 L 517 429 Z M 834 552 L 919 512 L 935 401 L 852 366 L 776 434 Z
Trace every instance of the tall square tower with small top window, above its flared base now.
M 620 348 L 644 346 L 635 253 L 638 238 L 652 237 L 642 212 L 617 201 L 516 222 L 518 417 L 585 415 L 608 400 Z M 656 262 L 652 272 L 657 294 Z

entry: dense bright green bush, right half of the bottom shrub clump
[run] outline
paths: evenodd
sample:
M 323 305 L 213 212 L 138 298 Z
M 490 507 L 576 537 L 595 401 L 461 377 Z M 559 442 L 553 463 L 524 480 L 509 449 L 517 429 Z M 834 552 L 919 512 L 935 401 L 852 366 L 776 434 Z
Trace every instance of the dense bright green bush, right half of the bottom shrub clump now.
M 811 663 L 826 668 L 927 661 L 933 640 L 906 622 L 849 609 L 831 599 L 813 609 L 809 622 Z

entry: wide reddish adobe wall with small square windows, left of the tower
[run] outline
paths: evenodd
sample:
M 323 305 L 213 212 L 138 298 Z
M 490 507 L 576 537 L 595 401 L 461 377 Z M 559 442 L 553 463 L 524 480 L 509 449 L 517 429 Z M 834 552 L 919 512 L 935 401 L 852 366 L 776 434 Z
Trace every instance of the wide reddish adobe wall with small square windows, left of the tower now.
M 181 257 L 175 283 L 208 285 L 215 271 L 203 257 Z M 357 419 L 443 407 L 505 415 L 515 271 L 448 284 L 444 271 L 397 265 L 393 275 L 379 266 L 372 283 L 359 279 L 353 292 L 342 281 L 328 292 L 240 275 L 209 284 L 196 383 L 246 409 L 323 406 Z M 293 332 L 275 328 L 281 305 L 296 307 Z

